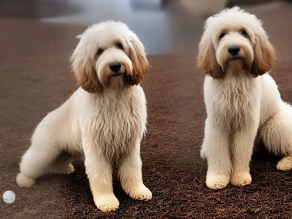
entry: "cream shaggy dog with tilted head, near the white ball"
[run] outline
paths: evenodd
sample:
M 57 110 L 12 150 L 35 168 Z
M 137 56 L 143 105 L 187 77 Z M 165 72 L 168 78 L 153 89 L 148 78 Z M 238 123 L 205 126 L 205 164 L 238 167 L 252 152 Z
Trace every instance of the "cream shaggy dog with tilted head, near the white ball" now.
M 77 36 L 72 68 L 80 88 L 36 127 L 20 163 L 17 183 L 29 187 L 46 173 L 72 173 L 84 160 L 95 205 L 119 207 L 112 187 L 117 161 L 124 191 L 149 200 L 142 182 L 140 141 L 146 131 L 146 100 L 140 81 L 149 67 L 143 44 L 121 22 L 92 25 Z

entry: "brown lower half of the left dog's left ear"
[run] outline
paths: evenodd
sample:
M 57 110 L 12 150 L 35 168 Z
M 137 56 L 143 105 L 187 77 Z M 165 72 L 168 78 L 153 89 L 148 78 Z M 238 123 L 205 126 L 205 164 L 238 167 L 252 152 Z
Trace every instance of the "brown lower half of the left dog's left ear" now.
M 97 74 L 90 61 L 84 63 L 73 63 L 73 70 L 77 79 L 77 84 L 88 93 L 100 93 L 103 90 L 102 84 L 98 80 Z

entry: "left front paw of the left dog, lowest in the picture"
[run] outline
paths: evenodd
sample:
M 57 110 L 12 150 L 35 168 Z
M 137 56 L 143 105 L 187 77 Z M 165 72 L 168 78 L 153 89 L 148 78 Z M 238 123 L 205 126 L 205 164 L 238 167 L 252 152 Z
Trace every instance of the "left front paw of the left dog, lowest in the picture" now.
M 115 211 L 119 208 L 119 200 L 112 195 L 94 198 L 96 207 L 103 212 Z

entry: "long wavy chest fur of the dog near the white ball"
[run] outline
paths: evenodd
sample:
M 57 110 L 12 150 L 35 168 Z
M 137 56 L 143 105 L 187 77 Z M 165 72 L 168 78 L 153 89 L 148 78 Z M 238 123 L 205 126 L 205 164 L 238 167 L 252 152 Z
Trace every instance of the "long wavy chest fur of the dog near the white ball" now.
M 122 92 L 100 95 L 92 101 L 92 117 L 87 133 L 108 157 L 127 153 L 145 132 L 145 98 L 139 93 Z

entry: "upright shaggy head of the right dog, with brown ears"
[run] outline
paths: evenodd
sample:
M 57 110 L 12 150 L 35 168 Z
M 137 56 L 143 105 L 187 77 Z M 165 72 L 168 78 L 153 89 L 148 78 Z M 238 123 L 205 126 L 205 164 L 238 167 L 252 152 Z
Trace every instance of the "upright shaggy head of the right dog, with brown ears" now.
M 199 44 L 198 67 L 223 79 L 226 71 L 248 70 L 253 77 L 270 71 L 275 53 L 262 22 L 239 7 L 207 19 Z

